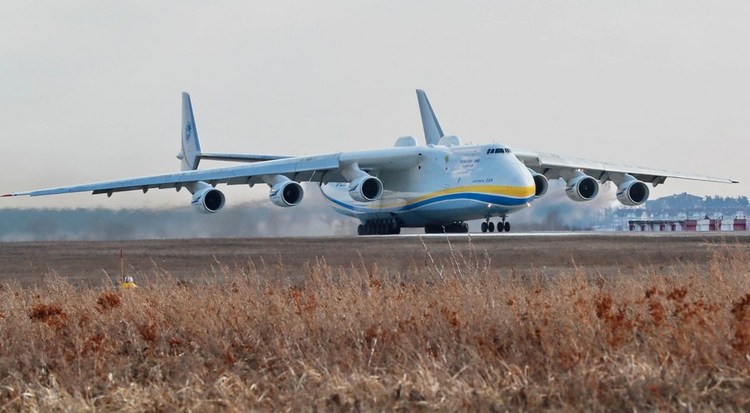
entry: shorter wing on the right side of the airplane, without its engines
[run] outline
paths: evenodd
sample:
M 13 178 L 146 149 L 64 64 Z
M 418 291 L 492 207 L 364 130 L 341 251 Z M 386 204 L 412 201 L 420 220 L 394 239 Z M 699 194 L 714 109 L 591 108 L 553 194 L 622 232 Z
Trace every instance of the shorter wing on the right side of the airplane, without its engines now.
M 739 182 L 729 178 L 685 174 L 662 169 L 571 158 L 543 152 L 515 151 L 515 155 L 531 170 L 546 176 L 548 179 L 560 178 L 576 170 L 581 170 L 583 173 L 598 179 L 602 183 L 612 180 L 612 174 L 629 174 L 639 181 L 648 182 L 654 186 L 664 183 L 667 178 L 719 183 Z

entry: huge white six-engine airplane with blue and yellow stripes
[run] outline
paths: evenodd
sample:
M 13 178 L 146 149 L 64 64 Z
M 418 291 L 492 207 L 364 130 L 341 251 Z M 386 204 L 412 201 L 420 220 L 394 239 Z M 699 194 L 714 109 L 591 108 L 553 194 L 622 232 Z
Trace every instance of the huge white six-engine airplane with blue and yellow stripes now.
M 218 184 L 266 184 L 269 200 L 279 207 L 302 202 L 301 182 L 317 183 L 334 210 L 359 219 L 359 235 L 399 234 L 423 227 L 426 233 L 466 233 L 467 221 L 484 220 L 482 232 L 510 231 L 508 215 L 543 196 L 549 180 L 562 179 L 573 201 L 594 199 L 599 186 L 612 181 L 623 205 L 641 205 L 667 178 L 737 183 L 733 179 L 620 165 L 534 151 L 502 144 L 463 145 L 445 135 L 423 90 L 417 90 L 425 144 L 412 136 L 393 147 L 313 156 L 210 153 L 201 150 L 190 95 L 182 93 L 181 171 L 35 191 L 2 197 L 72 192 L 107 194 L 150 189 L 187 189 L 199 212 L 219 212 L 226 203 Z M 201 160 L 241 162 L 198 169 Z M 498 219 L 495 226 L 493 219 Z

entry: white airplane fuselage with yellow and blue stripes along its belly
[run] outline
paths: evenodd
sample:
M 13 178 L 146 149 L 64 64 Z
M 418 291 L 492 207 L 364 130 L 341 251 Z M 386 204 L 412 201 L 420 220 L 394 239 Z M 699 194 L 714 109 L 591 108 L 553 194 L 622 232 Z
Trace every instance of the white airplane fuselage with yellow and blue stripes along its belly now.
M 421 227 L 505 216 L 534 199 L 531 172 L 502 145 L 392 150 L 414 150 L 418 157 L 407 168 L 370 171 L 383 182 L 380 199 L 358 202 L 349 195 L 348 183 L 322 184 L 331 206 L 362 222 L 385 219 Z

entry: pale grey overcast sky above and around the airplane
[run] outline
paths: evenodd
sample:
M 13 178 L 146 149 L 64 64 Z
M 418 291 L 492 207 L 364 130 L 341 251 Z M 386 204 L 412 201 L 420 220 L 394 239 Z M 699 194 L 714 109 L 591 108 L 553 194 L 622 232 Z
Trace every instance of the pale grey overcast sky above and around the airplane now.
M 652 197 L 745 195 L 748 22 L 744 0 L 4 1 L 0 192 L 179 169 L 183 90 L 204 150 L 303 155 L 423 139 L 424 88 L 464 142 L 743 181 L 668 180 Z

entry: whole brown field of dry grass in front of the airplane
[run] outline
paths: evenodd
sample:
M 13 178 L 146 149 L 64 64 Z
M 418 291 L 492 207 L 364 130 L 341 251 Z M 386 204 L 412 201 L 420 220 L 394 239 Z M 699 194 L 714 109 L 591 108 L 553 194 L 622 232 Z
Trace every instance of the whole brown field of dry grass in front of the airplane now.
M 120 249 L 138 289 L 110 284 Z M 745 237 L 0 244 L 0 258 L 0 410 L 750 408 Z

